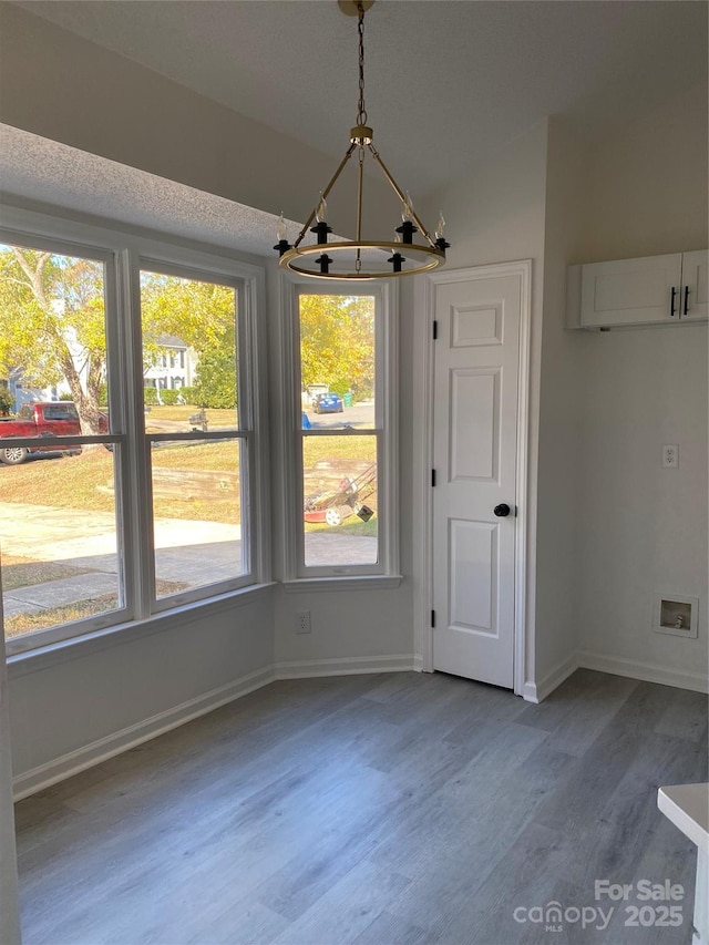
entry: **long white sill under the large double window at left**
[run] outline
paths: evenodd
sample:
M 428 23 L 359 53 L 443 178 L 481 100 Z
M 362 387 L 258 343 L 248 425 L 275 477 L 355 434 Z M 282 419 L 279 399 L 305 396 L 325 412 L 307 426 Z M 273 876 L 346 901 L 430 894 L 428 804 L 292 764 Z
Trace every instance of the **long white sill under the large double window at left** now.
M 14 679 L 20 676 L 27 676 L 30 672 L 49 669 L 52 666 L 68 662 L 72 659 L 83 659 L 85 656 L 102 649 L 122 646 L 123 644 L 132 643 L 152 634 L 173 629 L 176 626 L 188 624 L 195 619 L 212 617 L 224 610 L 233 610 L 236 607 L 246 607 L 266 596 L 270 592 L 270 588 L 275 586 L 275 582 L 254 584 L 249 587 L 242 587 L 238 590 L 220 594 L 218 597 L 212 597 L 207 600 L 196 600 L 192 604 L 174 607 L 172 610 L 152 614 L 144 620 L 115 624 L 112 627 L 105 627 L 101 630 L 93 630 L 81 636 L 70 637 L 65 640 L 58 640 L 47 646 L 38 646 L 35 649 L 17 653 L 8 656 L 8 677 Z

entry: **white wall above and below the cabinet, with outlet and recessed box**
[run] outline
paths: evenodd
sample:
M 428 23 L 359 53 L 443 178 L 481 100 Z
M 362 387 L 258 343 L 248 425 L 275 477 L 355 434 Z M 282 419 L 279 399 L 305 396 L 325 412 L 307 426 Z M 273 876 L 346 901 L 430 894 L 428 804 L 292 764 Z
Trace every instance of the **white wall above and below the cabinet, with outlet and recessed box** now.
M 588 155 L 573 261 L 707 247 L 707 89 Z M 582 659 L 700 687 L 707 678 L 707 327 L 584 335 L 578 633 Z M 660 448 L 678 443 L 678 470 Z M 699 596 L 699 639 L 650 629 L 654 592 Z

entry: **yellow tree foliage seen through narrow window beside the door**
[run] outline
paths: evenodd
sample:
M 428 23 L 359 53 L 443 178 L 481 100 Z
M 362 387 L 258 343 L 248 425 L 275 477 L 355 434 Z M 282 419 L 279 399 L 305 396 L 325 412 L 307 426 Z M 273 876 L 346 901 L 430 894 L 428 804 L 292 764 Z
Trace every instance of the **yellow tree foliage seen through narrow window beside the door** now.
M 374 389 L 374 299 L 371 296 L 300 296 L 302 386 L 371 397 Z

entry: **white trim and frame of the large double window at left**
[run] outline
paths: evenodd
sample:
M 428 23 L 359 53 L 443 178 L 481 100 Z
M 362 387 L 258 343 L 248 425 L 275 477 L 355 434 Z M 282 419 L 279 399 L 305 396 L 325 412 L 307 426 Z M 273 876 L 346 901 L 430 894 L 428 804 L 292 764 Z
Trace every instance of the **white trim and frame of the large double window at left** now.
M 173 244 L 140 236 L 130 228 L 112 228 L 111 224 L 93 225 L 65 219 L 61 216 L 40 214 L 19 207 L 3 207 L 0 242 L 13 240 L 24 245 L 37 245 L 66 255 L 83 256 L 106 263 L 106 310 L 113 308 L 117 317 L 106 319 L 109 358 L 106 370 L 115 377 L 124 377 L 127 393 L 123 401 L 114 382 L 111 391 L 110 411 L 117 418 L 121 432 L 109 436 L 73 436 L 73 442 L 116 442 L 125 446 L 127 431 L 135 431 L 135 449 L 121 469 L 121 486 L 116 490 L 116 509 L 123 507 L 117 516 L 121 528 L 119 554 L 123 551 L 124 607 L 106 615 L 90 617 L 73 624 L 63 624 L 45 630 L 10 638 L 6 641 L 8 657 L 23 655 L 31 658 L 32 651 L 44 653 L 48 647 L 81 644 L 96 633 L 142 627 L 148 631 L 155 619 L 179 615 L 195 607 L 209 606 L 215 598 L 225 599 L 234 594 L 247 595 L 257 592 L 270 582 L 270 522 L 269 475 L 267 438 L 267 361 L 266 361 L 266 311 L 265 269 L 235 258 L 233 250 L 204 248 L 199 244 Z M 146 565 L 153 566 L 152 517 L 145 518 L 146 497 L 150 484 L 141 474 L 138 454 L 145 450 L 143 412 L 143 366 L 140 323 L 140 268 L 151 264 L 193 274 L 210 281 L 226 280 L 239 285 L 240 325 L 239 342 L 244 345 L 243 370 L 250 379 L 250 399 L 247 408 L 249 430 L 243 436 L 248 443 L 250 479 L 248 484 L 248 511 L 250 525 L 250 567 L 248 584 L 242 577 L 230 582 L 205 585 L 195 593 L 186 592 L 152 600 L 152 588 L 146 582 Z M 242 339 L 243 332 L 243 339 Z M 125 407 L 125 410 L 123 409 Z M 8 441 L 9 442 L 9 441 Z M 19 441 L 18 441 L 19 442 Z M 152 509 L 151 509 L 152 516 Z M 148 531 L 150 527 L 150 531 Z M 137 555 L 126 551 L 138 548 Z M 131 559 L 129 561 L 129 557 Z M 132 569 L 129 576 L 129 567 Z M 164 606 L 163 606 L 164 605 Z

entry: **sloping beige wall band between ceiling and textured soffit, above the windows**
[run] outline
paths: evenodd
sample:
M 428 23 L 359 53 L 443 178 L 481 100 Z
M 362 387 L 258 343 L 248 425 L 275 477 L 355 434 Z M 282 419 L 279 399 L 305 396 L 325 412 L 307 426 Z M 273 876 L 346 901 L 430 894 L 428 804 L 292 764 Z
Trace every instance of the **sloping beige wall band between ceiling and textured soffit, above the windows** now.
M 339 163 L 11 3 L 0 4 L 0 27 L 6 124 L 294 220 Z M 336 232 L 351 225 L 351 172 L 328 199 Z M 384 181 L 367 188 L 370 212 L 398 218 Z

